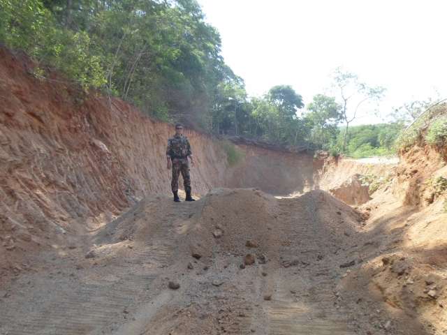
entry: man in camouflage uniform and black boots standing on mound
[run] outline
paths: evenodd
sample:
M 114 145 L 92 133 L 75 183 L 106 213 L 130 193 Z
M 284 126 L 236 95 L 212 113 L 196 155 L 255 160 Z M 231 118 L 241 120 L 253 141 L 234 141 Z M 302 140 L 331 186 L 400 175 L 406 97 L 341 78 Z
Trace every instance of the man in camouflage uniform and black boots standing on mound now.
M 191 144 L 186 136 L 183 135 L 183 126 L 175 125 L 175 135 L 168 140 L 168 149 L 166 149 L 166 159 L 168 160 L 168 170 L 173 169 L 173 179 L 170 183 L 173 189 L 174 201 L 179 202 L 179 173 L 182 172 L 184 191 L 186 192 L 186 201 L 196 201 L 191 197 L 191 177 L 189 177 L 188 157 L 191 165 L 194 166 L 193 154 L 191 153 Z

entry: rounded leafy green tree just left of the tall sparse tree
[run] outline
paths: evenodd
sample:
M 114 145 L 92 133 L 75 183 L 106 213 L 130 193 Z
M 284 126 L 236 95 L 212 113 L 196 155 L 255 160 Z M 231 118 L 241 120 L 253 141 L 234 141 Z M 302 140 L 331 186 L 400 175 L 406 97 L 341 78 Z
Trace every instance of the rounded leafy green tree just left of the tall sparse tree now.
M 311 142 L 329 149 L 339 133 L 337 125 L 342 120 L 342 106 L 332 96 L 317 94 L 307 105 L 307 110 L 306 117 L 312 125 Z

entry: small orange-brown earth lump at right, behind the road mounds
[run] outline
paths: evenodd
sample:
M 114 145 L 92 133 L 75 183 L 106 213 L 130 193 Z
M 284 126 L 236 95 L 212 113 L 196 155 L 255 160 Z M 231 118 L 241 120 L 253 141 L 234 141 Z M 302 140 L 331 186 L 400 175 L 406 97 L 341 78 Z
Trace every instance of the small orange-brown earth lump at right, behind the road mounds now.
M 369 186 L 362 184 L 361 174 L 354 174 L 336 188 L 331 188 L 330 194 L 346 204 L 364 204 L 371 200 Z

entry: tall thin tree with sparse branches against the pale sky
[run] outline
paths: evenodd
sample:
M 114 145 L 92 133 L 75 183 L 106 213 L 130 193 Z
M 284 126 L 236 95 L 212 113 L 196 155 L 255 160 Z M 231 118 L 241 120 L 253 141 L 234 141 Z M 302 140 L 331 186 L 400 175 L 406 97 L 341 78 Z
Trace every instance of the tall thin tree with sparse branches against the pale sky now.
M 345 124 L 342 150 L 346 151 L 349 124 L 358 117 L 360 107 L 367 104 L 370 106 L 378 105 L 386 89 L 379 86 L 369 87 L 367 84 L 360 82 L 357 75 L 340 67 L 335 69 L 332 80 L 342 101 L 342 117 Z

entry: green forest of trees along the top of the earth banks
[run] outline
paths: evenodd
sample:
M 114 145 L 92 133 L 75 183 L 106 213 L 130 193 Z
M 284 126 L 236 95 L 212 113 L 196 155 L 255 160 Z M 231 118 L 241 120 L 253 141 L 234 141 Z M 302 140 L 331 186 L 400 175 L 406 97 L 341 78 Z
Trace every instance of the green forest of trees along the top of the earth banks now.
M 27 52 L 41 80 L 55 68 L 151 117 L 334 155 L 393 154 L 404 124 L 427 106 L 402 106 L 389 124 L 351 126 L 360 106 L 376 110 L 385 89 L 342 68 L 332 75 L 334 94 L 306 105 L 286 84 L 250 97 L 195 0 L 0 0 L 0 43 Z

